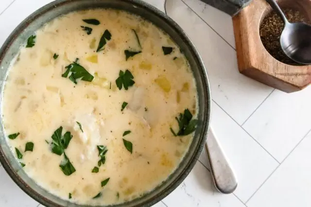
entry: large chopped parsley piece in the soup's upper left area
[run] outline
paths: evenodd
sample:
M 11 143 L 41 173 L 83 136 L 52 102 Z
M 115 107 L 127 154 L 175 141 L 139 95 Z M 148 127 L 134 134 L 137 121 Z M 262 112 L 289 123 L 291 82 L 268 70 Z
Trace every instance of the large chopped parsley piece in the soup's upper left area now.
M 64 74 L 62 74 L 62 77 L 67 78 L 69 72 L 71 72 L 69 80 L 72 81 L 74 84 L 77 84 L 77 79 L 79 78 L 87 82 L 92 82 L 92 80 L 94 79 L 94 76 L 92 76 L 89 72 L 87 72 L 85 68 L 79 65 L 77 61 L 66 66 L 66 69 L 67 70 Z

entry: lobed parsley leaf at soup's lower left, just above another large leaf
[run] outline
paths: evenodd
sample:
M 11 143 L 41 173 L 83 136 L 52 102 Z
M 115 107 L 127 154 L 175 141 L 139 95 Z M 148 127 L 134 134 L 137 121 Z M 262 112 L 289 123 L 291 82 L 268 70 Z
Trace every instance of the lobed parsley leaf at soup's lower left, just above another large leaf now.
M 62 136 L 63 127 L 60 126 L 52 135 L 51 149 L 52 153 L 56 155 L 62 155 L 64 150 L 67 149 L 69 142 L 72 138 L 70 132 L 66 132 Z

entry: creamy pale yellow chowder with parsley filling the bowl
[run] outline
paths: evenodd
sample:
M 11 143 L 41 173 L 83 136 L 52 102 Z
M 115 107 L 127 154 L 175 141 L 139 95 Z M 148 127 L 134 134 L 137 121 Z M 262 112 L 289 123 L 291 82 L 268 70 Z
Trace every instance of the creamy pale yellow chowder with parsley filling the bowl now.
M 168 35 L 100 9 L 54 19 L 25 45 L 5 82 L 2 121 L 36 183 L 75 203 L 109 205 L 173 173 L 197 125 L 197 92 Z

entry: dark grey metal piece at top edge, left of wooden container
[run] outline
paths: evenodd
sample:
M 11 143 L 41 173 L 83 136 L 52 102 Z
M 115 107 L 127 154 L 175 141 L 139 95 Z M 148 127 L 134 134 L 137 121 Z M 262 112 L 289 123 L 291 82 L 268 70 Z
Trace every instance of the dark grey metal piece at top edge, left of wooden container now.
M 230 16 L 238 14 L 251 0 L 202 0 L 203 2 L 219 9 Z

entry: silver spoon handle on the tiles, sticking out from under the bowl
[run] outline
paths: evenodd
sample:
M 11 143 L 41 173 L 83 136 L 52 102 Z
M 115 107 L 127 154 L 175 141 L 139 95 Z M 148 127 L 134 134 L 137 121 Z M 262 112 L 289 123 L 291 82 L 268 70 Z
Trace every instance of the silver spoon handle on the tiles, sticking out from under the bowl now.
M 216 189 L 225 194 L 232 193 L 238 183 L 211 127 L 205 149 Z

